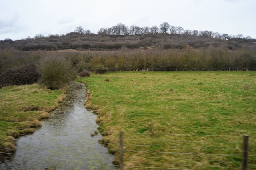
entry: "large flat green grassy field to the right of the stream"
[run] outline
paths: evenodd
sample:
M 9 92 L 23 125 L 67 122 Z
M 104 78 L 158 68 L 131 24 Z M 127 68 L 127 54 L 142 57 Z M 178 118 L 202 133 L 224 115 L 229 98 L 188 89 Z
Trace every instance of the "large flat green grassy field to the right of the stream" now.
M 124 131 L 126 169 L 241 169 L 243 134 L 256 167 L 255 74 L 114 72 L 82 81 L 110 152 L 118 154 Z

